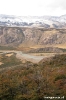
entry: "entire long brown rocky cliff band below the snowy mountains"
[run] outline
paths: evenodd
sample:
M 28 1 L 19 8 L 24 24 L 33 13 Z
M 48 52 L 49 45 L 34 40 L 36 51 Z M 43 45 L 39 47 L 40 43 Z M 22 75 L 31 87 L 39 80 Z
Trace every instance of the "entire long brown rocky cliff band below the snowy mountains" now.
M 66 29 L 0 27 L 0 45 L 66 43 Z

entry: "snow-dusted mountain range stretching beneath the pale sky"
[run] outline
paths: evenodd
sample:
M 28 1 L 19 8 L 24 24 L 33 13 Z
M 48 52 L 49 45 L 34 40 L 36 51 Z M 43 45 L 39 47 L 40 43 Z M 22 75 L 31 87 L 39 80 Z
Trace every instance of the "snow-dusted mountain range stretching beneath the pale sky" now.
M 66 28 L 66 15 L 56 16 L 13 16 L 0 15 L 0 26 L 29 26 L 44 28 Z

